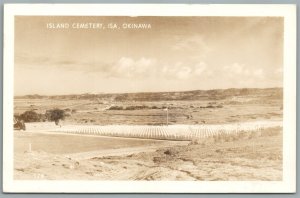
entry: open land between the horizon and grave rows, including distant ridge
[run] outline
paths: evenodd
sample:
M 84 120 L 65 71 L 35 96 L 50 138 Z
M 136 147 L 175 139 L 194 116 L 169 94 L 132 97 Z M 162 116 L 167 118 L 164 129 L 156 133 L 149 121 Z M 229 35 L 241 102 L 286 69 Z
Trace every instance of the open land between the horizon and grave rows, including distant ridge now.
M 24 96 L 15 114 L 64 109 L 66 124 L 224 124 L 282 118 L 282 89 L 228 89 L 170 93 Z

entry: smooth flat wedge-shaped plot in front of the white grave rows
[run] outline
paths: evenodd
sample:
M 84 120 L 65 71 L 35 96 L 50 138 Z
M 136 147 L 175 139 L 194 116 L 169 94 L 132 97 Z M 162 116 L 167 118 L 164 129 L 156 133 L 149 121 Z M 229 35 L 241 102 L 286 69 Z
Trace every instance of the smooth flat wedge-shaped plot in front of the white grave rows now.
M 107 150 L 139 146 L 157 146 L 166 144 L 168 141 L 117 138 L 89 135 L 65 135 L 51 133 L 14 133 L 14 152 L 24 153 L 29 150 L 52 154 L 71 154 L 95 150 Z

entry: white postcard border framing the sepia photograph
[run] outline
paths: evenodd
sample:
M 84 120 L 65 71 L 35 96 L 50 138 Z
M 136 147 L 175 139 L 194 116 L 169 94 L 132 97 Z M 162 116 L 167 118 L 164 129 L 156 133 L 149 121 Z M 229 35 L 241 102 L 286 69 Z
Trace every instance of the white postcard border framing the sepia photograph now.
M 13 179 L 14 16 L 281 16 L 284 17 L 282 181 L 27 181 Z M 296 191 L 296 6 L 189 4 L 7 4 L 4 8 L 3 191 L 281 193 Z

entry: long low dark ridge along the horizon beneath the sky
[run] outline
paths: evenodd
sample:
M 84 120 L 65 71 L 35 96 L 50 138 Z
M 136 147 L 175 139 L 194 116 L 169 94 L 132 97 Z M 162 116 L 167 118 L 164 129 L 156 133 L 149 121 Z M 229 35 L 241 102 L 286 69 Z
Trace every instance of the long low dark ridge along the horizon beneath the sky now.
M 15 99 L 87 99 L 110 101 L 165 101 L 165 100 L 221 100 L 233 96 L 260 95 L 267 98 L 282 98 L 283 88 L 229 88 L 212 90 L 191 90 L 173 92 L 138 92 L 138 93 L 84 93 L 69 95 L 25 95 Z

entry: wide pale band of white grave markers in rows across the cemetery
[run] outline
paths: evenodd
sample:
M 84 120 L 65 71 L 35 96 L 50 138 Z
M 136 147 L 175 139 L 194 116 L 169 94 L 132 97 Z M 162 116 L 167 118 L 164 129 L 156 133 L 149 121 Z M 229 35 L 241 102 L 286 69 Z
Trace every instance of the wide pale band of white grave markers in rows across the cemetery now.
M 113 137 L 193 140 L 219 134 L 237 134 L 240 132 L 259 132 L 264 128 L 282 126 L 282 122 L 245 122 L 238 124 L 216 125 L 67 125 L 56 128 L 54 132 L 90 134 Z

